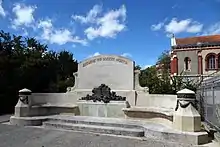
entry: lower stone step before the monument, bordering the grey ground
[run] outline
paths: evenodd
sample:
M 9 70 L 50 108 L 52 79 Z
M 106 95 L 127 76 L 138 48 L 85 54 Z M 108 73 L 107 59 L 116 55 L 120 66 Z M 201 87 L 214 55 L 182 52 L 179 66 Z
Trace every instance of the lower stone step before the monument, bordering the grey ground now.
M 132 137 L 143 137 L 144 130 L 142 129 L 131 129 L 131 128 L 121 128 L 121 127 L 111 127 L 111 126 L 98 126 L 89 124 L 73 124 L 67 122 L 56 122 L 56 121 L 46 121 L 43 123 L 45 128 L 56 128 L 65 129 L 73 131 L 83 131 L 101 134 L 114 134 L 122 136 L 132 136 Z

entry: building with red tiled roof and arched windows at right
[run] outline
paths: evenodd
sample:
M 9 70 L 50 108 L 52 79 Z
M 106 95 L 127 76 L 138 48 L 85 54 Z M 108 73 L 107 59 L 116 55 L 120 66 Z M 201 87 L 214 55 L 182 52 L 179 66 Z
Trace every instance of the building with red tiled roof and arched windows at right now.
M 220 69 L 220 35 L 171 37 L 171 76 L 206 77 Z

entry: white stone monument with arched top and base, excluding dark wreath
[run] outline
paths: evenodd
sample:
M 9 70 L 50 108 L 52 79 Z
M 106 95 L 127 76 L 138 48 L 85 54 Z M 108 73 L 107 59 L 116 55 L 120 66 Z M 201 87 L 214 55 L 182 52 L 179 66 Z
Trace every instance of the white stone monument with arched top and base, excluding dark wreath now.
M 148 89 L 139 85 L 140 71 L 134 71 L 134 61 L 117 55 L 99 55 L 86 59 L 78 64 L 78 72 L 74 73 L 75 85 L 69 92 L 77 93 L 77 105 L 84 116 L 124 117 L 123 108 L 135 105 L 137 93 Z M 117 95 L 126 97 L 126 101 L 111 101 L 108 104 L 79 100 L 92 94 L 93 88 L 101 84 L 107 85 Z M 128 102 L 129 104 L 128 105 Z

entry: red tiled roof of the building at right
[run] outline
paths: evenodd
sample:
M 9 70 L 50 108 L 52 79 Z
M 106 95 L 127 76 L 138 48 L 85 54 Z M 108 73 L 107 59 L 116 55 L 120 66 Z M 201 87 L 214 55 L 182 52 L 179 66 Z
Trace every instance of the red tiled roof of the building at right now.
M 214 43 L 214 42 L 220 42 L 220 35 L 176 38 L 177 45 L 187 45 L 187 44 L 197 44 L 197 43 Z

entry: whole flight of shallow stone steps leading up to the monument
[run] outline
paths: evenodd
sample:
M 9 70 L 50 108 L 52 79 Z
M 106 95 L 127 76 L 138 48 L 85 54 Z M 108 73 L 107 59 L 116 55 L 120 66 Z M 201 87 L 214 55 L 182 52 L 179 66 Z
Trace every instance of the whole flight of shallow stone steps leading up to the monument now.
M 50 118 L 43 122 L 45 128 L 83 131 L 101 134 L 114 134 L 122 136 L 143 137 L 144 130 L 135 124 L 114 119 L 91 118 L 83 116 L 60 116 Z

